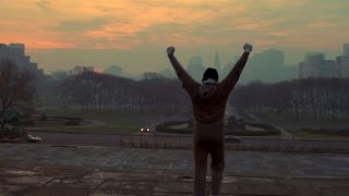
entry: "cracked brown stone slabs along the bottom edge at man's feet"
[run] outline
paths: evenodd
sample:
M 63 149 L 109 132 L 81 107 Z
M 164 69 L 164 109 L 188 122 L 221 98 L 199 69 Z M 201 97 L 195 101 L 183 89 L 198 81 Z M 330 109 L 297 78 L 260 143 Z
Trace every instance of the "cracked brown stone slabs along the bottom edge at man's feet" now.
M 111 196 L 192 195 L 192 175 L 168 171 L 117 171 L 59 168 L 0 168 L 0 195 Z M 207 183 L 207 195 L 209 194 Z M 224 177 L 221 195 L 347 196 L 348 179 Z

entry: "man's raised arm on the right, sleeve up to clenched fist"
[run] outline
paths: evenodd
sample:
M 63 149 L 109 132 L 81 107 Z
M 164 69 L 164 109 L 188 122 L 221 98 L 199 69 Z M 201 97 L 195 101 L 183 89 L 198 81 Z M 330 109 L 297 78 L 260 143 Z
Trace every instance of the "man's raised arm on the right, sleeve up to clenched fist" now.
M 229 74 L 227 75 L 227 77 L 220 82 L 220 84 L 222 86 L 225 86 L 227 88 L 227 90 L 230 90 L 236 86 L 236 84 L 239 81 L 239 77 L 241 75 L 241 72 L 244 68 L 244 65 L 248 62 L 250 52 L 252 51 L 253 46 L 245 44 L 243 46 L 243 50 L 244 52 L 242 53 L 241 58 L 239 59 L 239 61 L 236 63 L 236 65 L 233 66 L 233 69 L 229 72 Z

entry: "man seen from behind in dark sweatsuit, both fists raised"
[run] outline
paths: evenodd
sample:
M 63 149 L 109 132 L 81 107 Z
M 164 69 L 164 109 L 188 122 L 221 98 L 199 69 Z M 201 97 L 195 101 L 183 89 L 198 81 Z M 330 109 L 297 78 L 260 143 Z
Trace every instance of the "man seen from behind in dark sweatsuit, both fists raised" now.
M 218 72 L 208 68 L 202 84 L 195 82 L 174 57 L 174 48 L 168 47 L 168 58 L 190 95 L 193 106 L 194 136 L 193 152 L 195 162 L 194 193 L 205 195 L 207 157 L 212 158 L 212 194 L 218 195 L 225 167 L 225 111 L 228 96 L 236 86 L 240 74 L 252 51 L 252 45 L 245 44 L 240 60 L 228 76 L 218 83 Z

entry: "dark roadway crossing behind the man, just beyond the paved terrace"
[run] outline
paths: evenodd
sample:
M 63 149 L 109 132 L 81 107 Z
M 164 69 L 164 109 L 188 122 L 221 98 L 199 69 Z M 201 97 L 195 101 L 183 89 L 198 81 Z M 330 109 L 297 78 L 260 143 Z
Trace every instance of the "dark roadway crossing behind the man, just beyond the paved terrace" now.
M 146 144 L 148 147 L 189 148 L 192 144 L 191 135 L 152 135 L 152 134 L 92 134 L 92 133 L 57 133 L 57 132 L 29 132 L 34 136 L 43 138 L 43 144 L 53 146 L 122 146 L 132 144 Z M 149 145 L 148 145 L 149 144 Z M 131 145 L 131 146 L 132 146 Z M 152 146 L 153 145 L 153 146 Z M 143 146 L 143 147 L 146 147 Z M 315 152 L 349 152 L 349 140 L 327 139 L 269 139 L 269 138 L 243 138 L 241 142 L 227 142 L 230 149 L 277 149 L 299 150 Z M 229 148 L 228 148 L 229 149 Z M 325 150 L 325 151 L 324 151 Z

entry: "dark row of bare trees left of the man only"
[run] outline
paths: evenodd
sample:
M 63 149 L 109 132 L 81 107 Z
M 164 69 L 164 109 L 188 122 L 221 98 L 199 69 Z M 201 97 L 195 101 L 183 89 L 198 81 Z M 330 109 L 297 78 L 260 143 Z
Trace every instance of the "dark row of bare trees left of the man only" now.
M 57 85 L 59 83 L 59 85 Z M 44 87 L 40 99 L 55 99 L 61 107 L 79 108 L 82 112 L 174 112 L 186 107 L 180 83 L 164 77 L 142 81 L 95 72 L 84 72 L 57 82 L 57 91 Z M 50 101 L 46 101 L 50 102 Z

